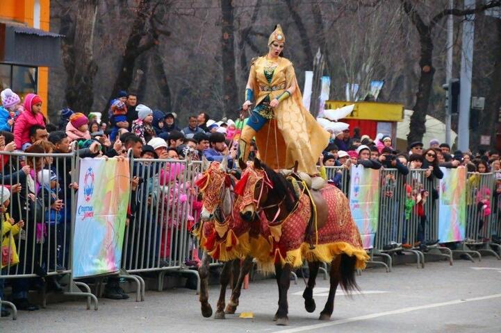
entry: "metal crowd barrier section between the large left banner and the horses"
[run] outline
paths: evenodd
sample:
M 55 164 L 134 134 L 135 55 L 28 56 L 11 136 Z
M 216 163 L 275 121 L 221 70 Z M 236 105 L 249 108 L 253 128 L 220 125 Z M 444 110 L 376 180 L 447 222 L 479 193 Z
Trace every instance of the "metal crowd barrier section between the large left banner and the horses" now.
M 124 237 L 122 268 L 127 273 L 159 271 L 158 290 L 167 271 L 199 276 L 190 269 L 197 253 L 189 226 L 197 214 L 193 182 L 201 164 L 187 160 L 131 159 L 131 176 L 140 178 L 131 196 L 135 218 Z

